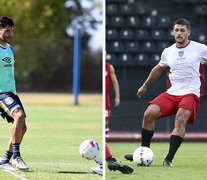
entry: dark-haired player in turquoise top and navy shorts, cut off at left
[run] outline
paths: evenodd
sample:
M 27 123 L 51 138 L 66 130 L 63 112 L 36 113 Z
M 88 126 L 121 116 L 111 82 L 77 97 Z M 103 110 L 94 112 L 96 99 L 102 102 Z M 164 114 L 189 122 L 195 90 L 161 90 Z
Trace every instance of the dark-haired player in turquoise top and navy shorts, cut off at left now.
M 25 112 L 16 95 L 14 79 L 13 48 L 8 44 L 12 38 L 14 22 L 7 16 L 0 17 L 0 114 L 8 123 L 12 123 L 11 139 L 0 162 L 0 168 L 6 170 L 28 170 L 29 167 L 20 155 L 20 143 L 27 130 Z M 2 146 L 1 146 L 2 147 Z M 10 159 L 13 156 L 12 165 Z

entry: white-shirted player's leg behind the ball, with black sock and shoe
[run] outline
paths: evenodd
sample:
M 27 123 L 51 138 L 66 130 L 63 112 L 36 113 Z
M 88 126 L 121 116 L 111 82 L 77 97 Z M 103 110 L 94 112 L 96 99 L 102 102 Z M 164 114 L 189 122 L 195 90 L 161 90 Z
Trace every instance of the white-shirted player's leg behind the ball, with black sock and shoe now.
M 161 109 L 156 104 L 151 104 L 148 106 L 144 113 L 144 118 L 142 122 L 141 129 L 141 146 L 150 147 L 150 143 L 154 134 L 155 120 L 162 116 Z M 129 161 L 133 161 L 133 153 L 125 154 L 124 158 Z

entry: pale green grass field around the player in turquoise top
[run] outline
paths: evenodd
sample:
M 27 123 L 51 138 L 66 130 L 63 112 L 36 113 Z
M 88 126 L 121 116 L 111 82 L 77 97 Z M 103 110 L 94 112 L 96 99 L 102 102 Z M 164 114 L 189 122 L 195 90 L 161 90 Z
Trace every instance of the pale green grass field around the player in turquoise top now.
M 73 105 L 72 95 L 20 94 L 27 114 L 28 131 L 21 145 L 28 172 L 15 171 L 29 180 L 89 179 L 94 161 L 80 157 L 79 146 L 86 139 L 96 140 L 102 149 L 101 95 L 81 95 L 80 105 Z M 11 124 L 0 119 L 0 156 L 10 137 Z M 102 156 L 102 151 L 99 157 Z M 16 177 L 0 171 L 0 180 Z

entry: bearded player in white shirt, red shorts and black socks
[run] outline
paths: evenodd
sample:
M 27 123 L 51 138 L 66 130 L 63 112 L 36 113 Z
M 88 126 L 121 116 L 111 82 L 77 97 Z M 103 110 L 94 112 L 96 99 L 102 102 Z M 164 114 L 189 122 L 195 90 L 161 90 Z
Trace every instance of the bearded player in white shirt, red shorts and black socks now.
M 204 63 L 207 63 L 207 46 L 189 40 L 190 23 L 178 19 L 173 26 L 175 43 L 164 49 L 160 62 L 152 69 L 147 80 L 138 89 L 137 96 L 145 94 L 147 87 L 169 67 L 167 91 L 149 103 L 142 123 L 142 146 L 150 147 L 155 120 L 175 114 L 170 148 L 163 166 L 172 166 L 172 160 L 180 147 L 186 124 L 193 124 L 204 92 Z M 132 154 L 126 154 L 132 160 Z

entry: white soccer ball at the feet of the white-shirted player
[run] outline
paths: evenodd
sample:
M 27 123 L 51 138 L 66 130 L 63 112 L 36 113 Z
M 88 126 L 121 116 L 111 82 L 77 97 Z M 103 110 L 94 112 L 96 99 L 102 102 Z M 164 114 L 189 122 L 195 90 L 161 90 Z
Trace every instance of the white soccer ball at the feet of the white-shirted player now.
M 150 166 L 154 160 L 154 154 L 150 148 L 141 146 L 134 151 L 133 160 L 138 166 Z

